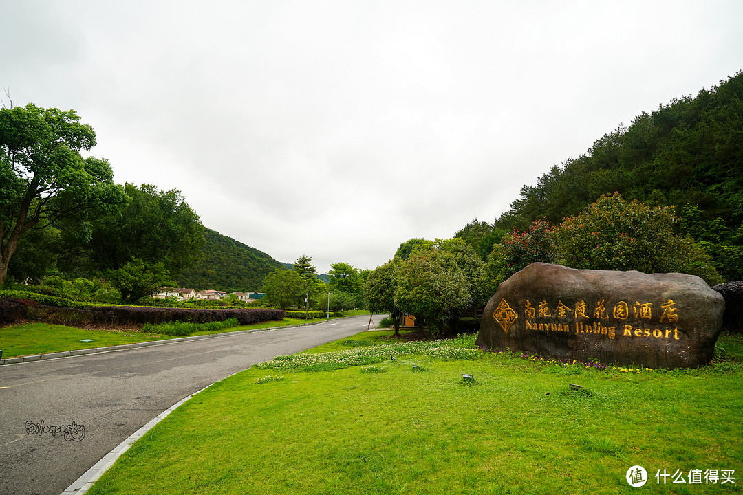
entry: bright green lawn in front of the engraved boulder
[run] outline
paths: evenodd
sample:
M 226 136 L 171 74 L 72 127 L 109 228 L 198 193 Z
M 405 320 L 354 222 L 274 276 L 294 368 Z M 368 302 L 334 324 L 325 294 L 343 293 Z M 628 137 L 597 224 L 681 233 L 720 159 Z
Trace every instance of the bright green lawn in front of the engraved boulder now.
M 742 491 L 741 336 L 720 338 L 730 361 L 668 371 L 482 353 L 474 336 L 380 338 L 389 333 L 363 332 L 332 353 L 280 357 L 219 381 L 137 441 L 88 494 Z M 648 473 L 644 488 L 625 480 L 634 465 Z M 719 476 L 690 484 L 697 469 L 735 470 L 736 484 Z M 687 483 L 669 476 L 658 485 L 658 470 L 678 470 Z

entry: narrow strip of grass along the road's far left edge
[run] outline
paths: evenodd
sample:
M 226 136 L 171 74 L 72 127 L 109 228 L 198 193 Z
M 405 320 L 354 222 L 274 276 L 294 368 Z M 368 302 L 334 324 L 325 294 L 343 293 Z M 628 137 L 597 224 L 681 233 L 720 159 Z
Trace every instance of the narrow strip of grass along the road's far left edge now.
M 193 332 L 191 335 L 286 327 L 288 325 L 311 323 L 314 321 L 325 321 L 325 318 L 317 318 L 315 320 L 284 318 L 282 321 L 265 321 L 259 324 L 219 330 L 218 332 Z M 92 338 L 93 341 L 81 342 L 88 338 Z M 137 342 L 159 341 L 166 338 L 178 337 L 158 333 L 137 332 L 134 330 L 130 332 L 110 332 L 108 330 L 83 330 L 76 327 L 65 327 L 64 325 L 30 323 L 0 328 L 0 349 L 2 350 L 3 358 L 14 358 L 19 355 L 59 353 L 65 350 L 134 344 Z

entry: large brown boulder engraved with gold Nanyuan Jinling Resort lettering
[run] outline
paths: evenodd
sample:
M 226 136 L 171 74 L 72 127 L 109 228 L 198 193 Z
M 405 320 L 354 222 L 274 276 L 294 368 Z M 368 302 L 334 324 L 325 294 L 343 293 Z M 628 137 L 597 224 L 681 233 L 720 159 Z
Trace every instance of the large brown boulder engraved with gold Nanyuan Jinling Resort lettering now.
M 532 263 L 490 298 L 477 344 L 584 362 L 698 367 L 712 358 L 724 305 L 695 275 Z

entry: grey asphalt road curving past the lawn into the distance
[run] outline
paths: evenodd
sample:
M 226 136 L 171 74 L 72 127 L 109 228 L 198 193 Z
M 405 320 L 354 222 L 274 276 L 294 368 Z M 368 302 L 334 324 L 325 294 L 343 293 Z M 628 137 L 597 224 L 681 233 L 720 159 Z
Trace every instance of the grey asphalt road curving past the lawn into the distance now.
M 380 318 L 374 318 L 375 324 Z M 59 495 L 111 449 L 184 397 L 276 355 L 354 335 L 366 330 L 368 323 L 368 315 L 357 316 L 5 364 L 0 367 L 0 494 Z M 63 430 L 71 433 L 68 439 Z

